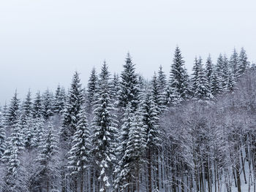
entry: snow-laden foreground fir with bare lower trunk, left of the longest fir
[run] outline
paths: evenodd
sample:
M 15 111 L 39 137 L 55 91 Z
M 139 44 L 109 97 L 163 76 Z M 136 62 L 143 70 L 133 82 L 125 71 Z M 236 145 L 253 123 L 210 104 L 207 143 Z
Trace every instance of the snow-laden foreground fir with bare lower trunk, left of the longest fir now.
M 68 165 L 71 174 L 78 178 L 80 192 L 83 192 L 85 191 L 84 177 L 86 175 L 86 169 L 89 169 L 91 141 L 85 110 L 80 110 L 78 119 L 78 126 L 72 137 L 72 148 L 69 150 Z

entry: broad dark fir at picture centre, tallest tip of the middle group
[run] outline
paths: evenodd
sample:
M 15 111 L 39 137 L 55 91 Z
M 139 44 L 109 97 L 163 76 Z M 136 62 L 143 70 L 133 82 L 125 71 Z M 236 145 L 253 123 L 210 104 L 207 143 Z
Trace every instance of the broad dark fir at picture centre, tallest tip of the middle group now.
M 121 72 L 121 87 L 119 91 L 119 106 L 123 109 L 130 102 L 134 110 L 138 107 L 138 75 L 135 74 L 135 64 L 132 63 L 132 58 L 127 53 L 127 58 L 124 64 L 124 71 Z

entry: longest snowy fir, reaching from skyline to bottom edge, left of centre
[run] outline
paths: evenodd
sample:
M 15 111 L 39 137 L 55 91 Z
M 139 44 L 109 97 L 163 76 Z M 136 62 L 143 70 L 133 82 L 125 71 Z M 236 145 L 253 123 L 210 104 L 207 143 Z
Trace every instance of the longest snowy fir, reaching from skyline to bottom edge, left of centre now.
M 91 150 L 96 162 L 99 191 L 109 191 L 111 167 L 116 161 L 116 120 L 113 115 L 113 101 L 111 101 L 110 73 L 104 62 L 99 74 L 99 91 L 95 102 L 94 119 L 92 122 L 93 136 Z

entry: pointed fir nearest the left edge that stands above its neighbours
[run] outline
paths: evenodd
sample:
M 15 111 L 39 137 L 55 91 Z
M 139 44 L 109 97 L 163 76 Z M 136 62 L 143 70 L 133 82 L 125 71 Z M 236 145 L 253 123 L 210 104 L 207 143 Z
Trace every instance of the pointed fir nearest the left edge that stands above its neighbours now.
M 20 99 L 18 99 L 18 93 L 17 90 L 15 91 L 14 96 L 12 96 L 12 99 L 10 101 L 8 110 L 7 110 L 7 125 L 13 126 L 15 123 L 18 123 L 20 113 Z

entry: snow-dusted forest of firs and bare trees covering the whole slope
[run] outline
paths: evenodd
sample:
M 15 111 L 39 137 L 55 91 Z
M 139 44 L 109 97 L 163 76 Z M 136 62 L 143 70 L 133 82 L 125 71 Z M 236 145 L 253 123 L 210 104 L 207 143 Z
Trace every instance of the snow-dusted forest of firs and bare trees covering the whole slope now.
M 216 64 L 176 47 L 167 79 L 150 81 L 127 54 L 83 88 L 18 93 L 0 114 L 0 191 L 255 191 L 255 65 L 245 50 Z M 244 176 L 241 178 L 241 176 Z

